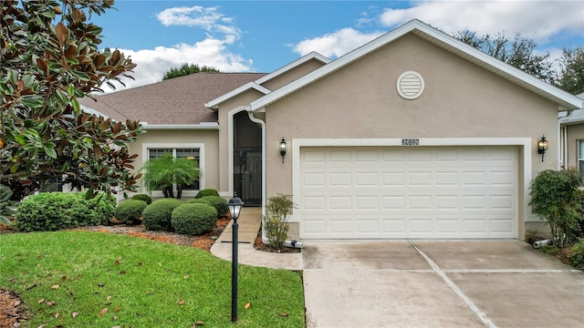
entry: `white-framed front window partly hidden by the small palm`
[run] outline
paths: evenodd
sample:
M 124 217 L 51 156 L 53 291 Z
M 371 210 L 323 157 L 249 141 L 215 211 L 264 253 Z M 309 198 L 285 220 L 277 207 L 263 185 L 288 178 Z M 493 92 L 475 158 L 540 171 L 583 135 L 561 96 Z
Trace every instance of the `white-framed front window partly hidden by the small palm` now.
M 158 159 L 164 153 L 170 153 L 177 159 L 193 159 L 196 161 L 199 168 L 199 178 L 193 179 L 193 183 L 183 185 L 183 194 L 188 196 L 189 191 L 198 191 L 203 189 L 203 181 L 201 176 L 203 174 L 203 144 L 143 144 L 143 153 L 146 154 L 147 159 Z M 176 186 L 174 188 L 176 190 Z

